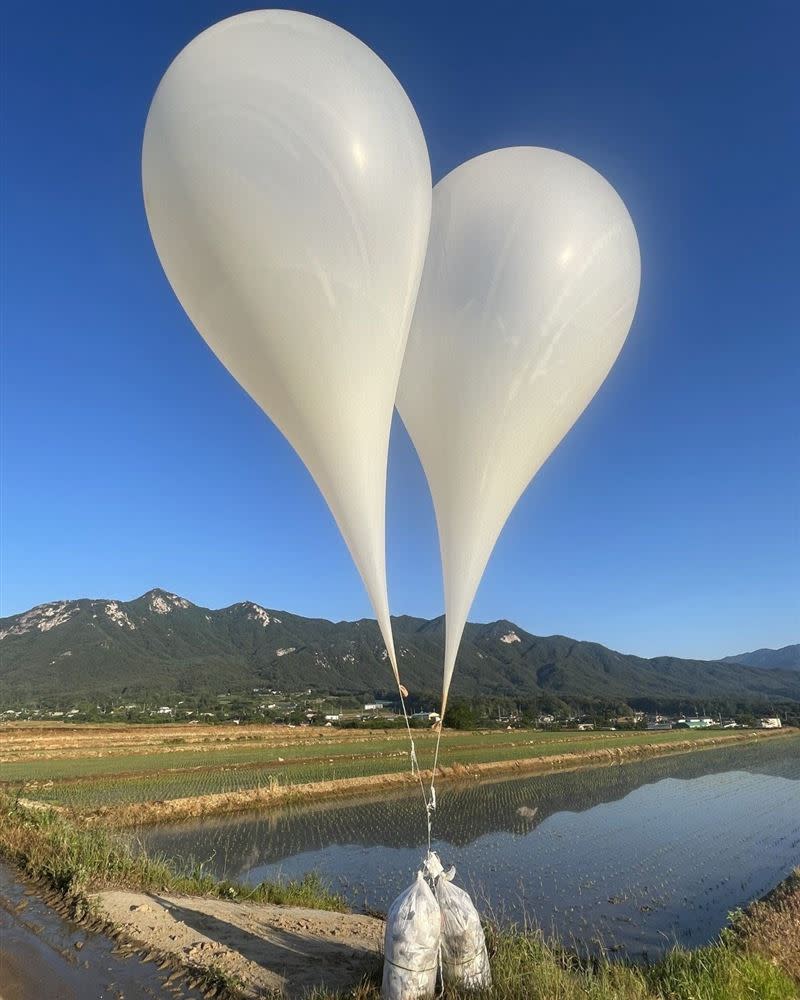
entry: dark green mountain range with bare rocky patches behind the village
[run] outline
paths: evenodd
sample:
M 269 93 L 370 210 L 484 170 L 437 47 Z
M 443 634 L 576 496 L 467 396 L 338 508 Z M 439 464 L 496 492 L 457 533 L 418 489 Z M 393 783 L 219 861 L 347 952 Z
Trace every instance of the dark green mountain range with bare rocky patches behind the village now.
M 441 686 L 442 618 L 393 618 L 403 682 Z M 0 704 L 12 700 L 221 693 L 253 687 L 390 691 L 376 623 L 301 618 L 244 601 L 212 611 L 164 590 L 133 601 L 56 601 L 0 619 Z M 509 621 L 468 624 L 456 695 L 660 701 L 800 701 L 800 672 L 643 659 Z

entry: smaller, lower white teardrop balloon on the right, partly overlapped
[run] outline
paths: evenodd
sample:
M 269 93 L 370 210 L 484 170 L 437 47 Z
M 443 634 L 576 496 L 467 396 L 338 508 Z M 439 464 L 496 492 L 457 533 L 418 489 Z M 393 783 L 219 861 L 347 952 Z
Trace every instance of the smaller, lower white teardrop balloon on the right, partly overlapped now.
M 496 150 L 434 188 L 397 407 L 439 529 L 445 705 L 492 548 L 613 365 L 639 275 L 625 205 L 574 157 Z

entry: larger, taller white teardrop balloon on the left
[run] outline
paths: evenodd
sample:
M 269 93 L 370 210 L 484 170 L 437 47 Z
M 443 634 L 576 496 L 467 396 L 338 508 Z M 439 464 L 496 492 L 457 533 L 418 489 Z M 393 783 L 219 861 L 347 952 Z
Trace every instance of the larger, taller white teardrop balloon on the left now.
M 240 14 L 169 67 L 142 179 L 175 294 L 322 491 L 396 673 L 386 466 L 431 211 L 408 97 L 327 21 Z

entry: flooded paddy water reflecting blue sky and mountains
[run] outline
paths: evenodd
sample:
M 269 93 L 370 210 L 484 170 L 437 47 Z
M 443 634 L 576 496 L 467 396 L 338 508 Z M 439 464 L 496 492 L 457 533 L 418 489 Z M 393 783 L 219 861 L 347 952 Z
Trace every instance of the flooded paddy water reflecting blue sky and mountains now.
M 800 862 L 800 740 L 443 786 L 439 803 L 435 849 L 484 912 L 653 954 L 709 940 Z M 389 796 L 144 839 L 249 882 L 314 869 L 354 906 L 386 909 L 421 858 L 420 813 L 418 798 Z

